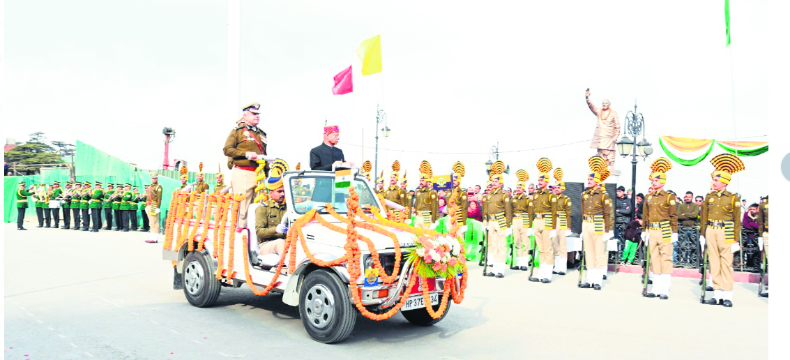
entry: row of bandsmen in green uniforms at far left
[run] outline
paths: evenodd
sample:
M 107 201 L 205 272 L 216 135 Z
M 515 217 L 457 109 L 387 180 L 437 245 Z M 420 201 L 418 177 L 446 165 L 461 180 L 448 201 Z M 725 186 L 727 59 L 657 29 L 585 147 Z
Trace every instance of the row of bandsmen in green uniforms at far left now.
M 149 186 L 145 187 L 145 192 L 139 192 L 139 188 L 131 184 L 107 184 L 107 188 L 102 188 L 101 182 L 93 184 L 85 181 L 84 183 L 70 183 L 60 188 L 60 183 L 55 181 L 50 186 L 46 184 L 33 184 L 30 188 L 25 188 L 26 184 L 21 182 L 17 190 L 17 229 L 26 230 L 22 225 L 24 211 L 28 207 L 28 196 L 31 196 L 39 225 L 36 227 L 57 228 L 60 223 L 60 209 L 63 211 L 62 229 L 71 229 L 71 218 L 73 218 L 73 229 L 83 231 L 98 232 L 102 224 L 102 209 L 107 225 L 103 228 L 112 229 L 113 218 L 115 218 L 116 231 L 137 231 L 137 210 L 144 209 L 144 203 L 150 205 Z M 119 190 L 115 190 L 115 188 Z M 161 187 L 159 187 L 161 188 Z M 159 195 L 161 199 L 161 195 Z M 115 216 L 114 216 L 115 215 Z M 55 224 L 51 223 L 54 218 Z M 82 227 L 80 228 L 80 222 Z M 92 222 L 92 226 L 91 226 Z M 143 217 L 142 231 L 149 231 L 149 218 Z

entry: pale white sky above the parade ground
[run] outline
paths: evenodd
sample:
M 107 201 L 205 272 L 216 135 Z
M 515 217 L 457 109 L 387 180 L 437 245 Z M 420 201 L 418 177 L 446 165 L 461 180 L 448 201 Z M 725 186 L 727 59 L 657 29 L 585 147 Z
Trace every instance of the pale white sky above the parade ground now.
M 243 1 L 240 102 L 263 105 L 270 153 L 307 166 L 328 118 L 349 160 L 373 161 L 380 104 L 392 132 L 379 138 L 378 169 L 397 159 L 412 186 L 423 159 L 435 174 L 461 160 L 465 186 L 483 184 L 496 142 L 512 173 L 534 179 L 536 160 L 549 157 L 566 181 L 582 181 L 594 153 L 587 87 L 621 119 L 638 101 L 653 157 L 663 155 L 660 135 L 730 139 L 737 130 L 768 141 L 766 2 L 731 1 L 732 49 L 719 0 L 445 4 Z M 5 15 L 5 137 L 44 131 L 157 168 L 161 129 L 174 127 L 171 157 L 211 172 L 224 164 L 235 120 L 223 108 L 226 2 L 17 0 Z M 363 77 L 355 47 L 379 33 L 383 72 Z M 333 96 L 332 77 L 348 65 L 355 91 Z M 639 161 L 638 191 L 653 157 Z M 765 195 L 755 188 L 767 158 L 743 160 L 731 189 L 751 203 Z M 630 185 L 630 162 L 618 157 L 616 169 Z M 667 187 L 706 191 L 712 171 L 708 161 L 675 164 Z

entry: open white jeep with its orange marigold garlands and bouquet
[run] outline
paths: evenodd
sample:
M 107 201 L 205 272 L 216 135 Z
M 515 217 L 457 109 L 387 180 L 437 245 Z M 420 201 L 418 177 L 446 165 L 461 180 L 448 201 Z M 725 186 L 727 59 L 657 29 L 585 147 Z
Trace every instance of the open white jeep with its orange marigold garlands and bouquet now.
M 412 324 L 429 326 L 447 315 L 450 299 L 461 301 L 465 257 L 453 237 L 389 221 L 359 174 L 348 188 L 336 188 L 334 172 L 282 178 L 288 236 L 279 255 L 258 254 L 260 204 L 250 206 L 248 228 L 237 232 L 243 195 L 174 194 L 163 257 L 190 304 L 211 306 L 220 286 L 246 283 L 261 296 L 283 294 L 284 303 L 299 307 L 313 339 L 336 343 L 352 332 L 358 311 L 374 320 L 401 311 Z

